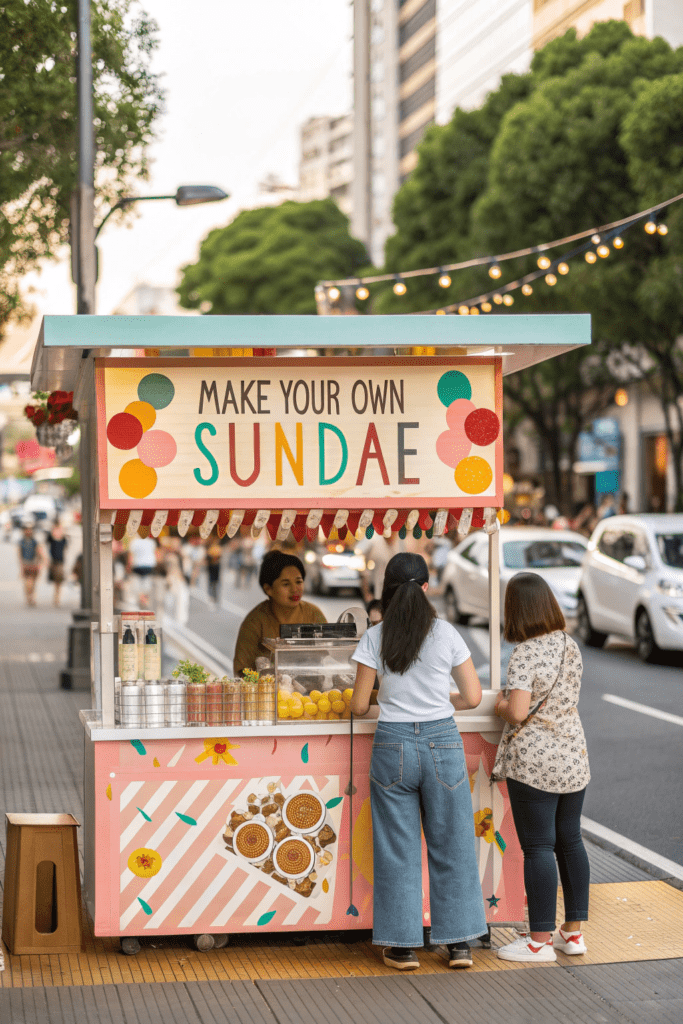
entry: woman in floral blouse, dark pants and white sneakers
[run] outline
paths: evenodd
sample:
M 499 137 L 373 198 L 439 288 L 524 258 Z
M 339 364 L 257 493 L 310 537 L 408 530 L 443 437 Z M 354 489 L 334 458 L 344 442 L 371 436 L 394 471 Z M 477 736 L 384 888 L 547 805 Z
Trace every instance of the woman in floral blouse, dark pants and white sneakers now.
M 530 932 L 498 951 L 502 959 L 554 961 L 555 949 L 586 952 L 590 870 L 581 812 L 591 772 L 579 718 L 582 659 L 564 632 L 552 590 L 535 572 L 519 572 L 505 594 L 505 639 L 516 643 L 507 689 L 496 714 L 508 724 L 494 766 L 505 779 L 524 853 Z M 557 864 L 556 860 L 557 858 Z M 553 938 L 557 865 L 565 922 Z

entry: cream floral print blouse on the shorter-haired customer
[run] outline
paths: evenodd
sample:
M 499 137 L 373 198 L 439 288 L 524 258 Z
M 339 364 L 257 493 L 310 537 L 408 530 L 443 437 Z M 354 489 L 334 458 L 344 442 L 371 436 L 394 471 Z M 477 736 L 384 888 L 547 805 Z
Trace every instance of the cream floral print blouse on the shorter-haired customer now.
M 591 770 L 577 708 L 583 663 L 571 637 L 566 638 L 562 664 L 563 648 L 564 634 L 556 630 L 525 640 L 513 650 L 506 695 L 510 690 L 527 690 L 532 709 L 556 679 L 557 683 L 547 703 L 511 739 L 516 726 L 506 723 L 494 778 L 514 778 L 546 793 L 577 793 L 588 785 Z

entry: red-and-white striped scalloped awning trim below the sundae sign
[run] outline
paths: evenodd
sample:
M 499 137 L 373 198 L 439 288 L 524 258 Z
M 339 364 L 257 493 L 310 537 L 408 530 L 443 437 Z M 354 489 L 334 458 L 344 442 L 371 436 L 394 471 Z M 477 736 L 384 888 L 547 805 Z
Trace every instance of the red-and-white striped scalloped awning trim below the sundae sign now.
M 206 539 L 215 529 L 218 537 L 234 537 L 243 527 L 250 527 L 256 538 L 265 529 L 271 541 L 284 541 L 290 530 L 297 541 L 306 538 L 312 542 L 318 530 L 329 539 L 346 540 L 349 534 L 359 540 L 373 534 L 387 530 L 403 536 L 412 532 L 415 537 L 429 531 L 430 537 L 442 537 L 451 529 L 465 537 L 470 529 L 484 527 L 493 534 L 499 528 L 499 512 L 495 507 L 466 509 L 310 509 L 300 511 L 284 509 L 101 509 L 99 522 L 111 523 L 114 537 L 159 537 L 164 526 L 175 526 L 180 537 L 184 537 L 190 526 L 199 529 L 200 537 Z M 336 531 L 336 532 L 333 532 Z M 404 532 L 403 532 L 404 531 Z

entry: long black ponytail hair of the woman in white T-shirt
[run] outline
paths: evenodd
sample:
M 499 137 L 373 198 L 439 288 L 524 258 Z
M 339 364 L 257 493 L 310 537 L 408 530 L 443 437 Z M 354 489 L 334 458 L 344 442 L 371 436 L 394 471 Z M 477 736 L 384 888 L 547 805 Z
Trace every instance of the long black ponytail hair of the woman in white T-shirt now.
M 389 560 L 382 588 L 382 662 L 402 675 L 418 659 L 436 612 L 423 584 L 429 570 L 422 555 L 401 552 Z

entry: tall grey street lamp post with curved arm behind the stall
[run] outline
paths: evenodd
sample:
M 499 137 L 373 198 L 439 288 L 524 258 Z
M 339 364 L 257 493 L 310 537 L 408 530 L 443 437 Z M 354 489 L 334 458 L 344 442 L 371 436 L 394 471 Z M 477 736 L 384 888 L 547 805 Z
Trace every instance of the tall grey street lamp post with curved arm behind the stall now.
M 131 203 L 145 200 L 172 199 L 177 206 L 196 206 L 200 203 L 215 203 L 227 199 L 227 194 L 213 185 L 180 185 L 174 196 L 126 196 L 120 199 L 106 213 L 95 229 L 95 136 L 92 98 L 92 43 L 90 33 L 90 0 L 78 0 L 77 14 L 77 83 L 78 83 L 78 184 L 72 196 L 72 267 L 77 288 L 77 313 L 95 312 L 95 283 L 97 279 L 97 255 L 95 239 L 108 218 L 115 210 Z M 92 396 L 90 396 L 92 400 Z M 81 474 L 81 525 L 83 530 L 83 553 L 81 574 L 81 612 L 75 613 L 76 626 L 68 645 L 69 665 L 62 673 L 61 685 L 72 688 L 76 679 L 86 689 L 90 688 L 90 620 L 94 600 L 93 593 L 93 475 L 91 460 L 90 426 L 84 420 L 81 425 L 79 446 L 79 470 Z M 79 642 L 87 627 L 87 638 Z

